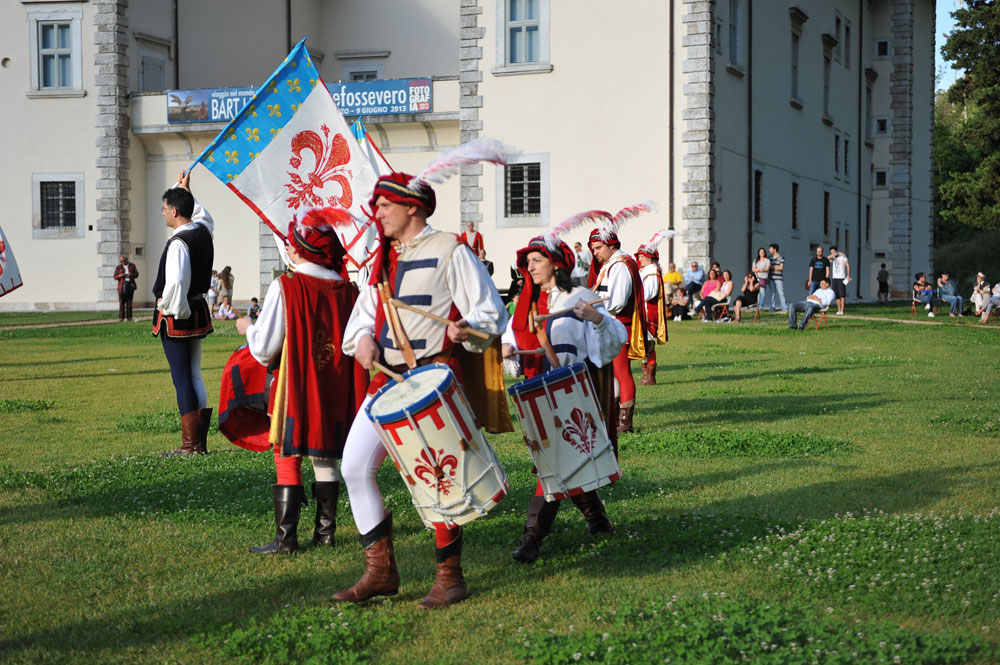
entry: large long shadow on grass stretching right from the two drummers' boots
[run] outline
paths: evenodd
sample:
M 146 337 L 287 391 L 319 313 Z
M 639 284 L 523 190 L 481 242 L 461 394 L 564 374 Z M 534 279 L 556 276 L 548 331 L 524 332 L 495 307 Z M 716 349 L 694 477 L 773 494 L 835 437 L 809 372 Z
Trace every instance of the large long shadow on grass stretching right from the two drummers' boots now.
M 703 486 L 739 480 L 747 475 L 813 464 L 818 462 L 763 464 L 685 478 L 683 485 L 697 490 Z M 641 497 L 644 496 L 679 491 L 681 488 L 672 487 L 669 480 L 627 479 L 614 488 L 601 490 L 616 528 L 613 535 L 598 538 L 585 535 L 585 523 L 579 511 L 570 502 L 564 501 L 553 531 L 542 546 L 542 558 L 536 564 L 517 566 L 516 570 L 520 573 L 515 575 L 517 580 L 510 577 L 510 565 L 506 561 L 481 574 L 484 579 L 498 580 L 490 588 L 502 592 L 504 585 L 515 585 L 522 577 L 543 581 L 549 577 L 565 576 L 572 571 L 584 577 L 611 580 L 705 564 L 714 561 L 720 554 L 739 550 L 755 539 L 767 536 L 769 529 L 775 526 L 792 528 L 805 520 L 828 519 L 847 512 L 861 513 L 875 509 L 890 513 L 919 512 L 951 494 L 962 484 L 962 474 L 978 468 L 982 467 L 955 466 L 886 477 L 823 482 L 694 507 L 643 507 L 638 511 L 642 517 L 636 515 L 637 511 L 630 504 L 636 500 L 643 501 Z M 523 501 L 526 505 L 527 499 Z M 669 502 L 667 498 L 660 505 L 665 506 Z M 484 534 L 482 538 L 499 544 L 496 537 L 490 538 L 489 534 Z M 516 541 L 517 537 L 514 537 L 506 543 L 508 551 L 513 551 Z

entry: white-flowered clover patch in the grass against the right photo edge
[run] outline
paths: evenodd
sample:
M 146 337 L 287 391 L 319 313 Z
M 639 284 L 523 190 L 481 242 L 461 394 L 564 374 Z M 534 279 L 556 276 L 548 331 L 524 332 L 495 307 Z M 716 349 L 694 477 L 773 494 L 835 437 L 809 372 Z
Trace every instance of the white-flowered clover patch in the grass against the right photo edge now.
M 1000 619 L 996 534 L 985 515 L 869 512 L 773 527 L 720 562 L 758 567 L 762 586 L 875 612 Z

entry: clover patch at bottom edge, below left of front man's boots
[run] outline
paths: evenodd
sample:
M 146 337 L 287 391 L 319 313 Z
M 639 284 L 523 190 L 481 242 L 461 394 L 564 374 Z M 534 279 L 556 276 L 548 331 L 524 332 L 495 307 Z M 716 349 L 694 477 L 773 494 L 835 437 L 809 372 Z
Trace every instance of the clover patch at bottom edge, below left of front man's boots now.
M 196 641 L 242 663 L 346 665 L 366 663 L 377 649 L 409 634 L 407 621 L 391 607 L 342 605 L 283 609 L 244 626 L 228 624 Z

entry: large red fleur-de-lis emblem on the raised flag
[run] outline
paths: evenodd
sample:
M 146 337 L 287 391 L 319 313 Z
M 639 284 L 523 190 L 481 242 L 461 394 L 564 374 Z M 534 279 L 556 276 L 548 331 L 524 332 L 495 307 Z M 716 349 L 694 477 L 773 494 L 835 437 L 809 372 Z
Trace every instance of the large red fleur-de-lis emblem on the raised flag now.
M 299 132 L 292 139 L 292 157 L 288 163 L 292 168 L 298 170 L 302 166 L 302 153 L 305 151 L 313 154 L 312 170 L 301 176 L 298 173 L 288 171 L 291 182 L 286 183 L 290 197 L 285 199 L 289 208 L 298 209 L 305 204 L 308 207 L 331 205 L 348 209 L 354 201 L 354 194 L 351 192 L 351 170 L 347 164 L 351 161 L 351 149 L 343 134 L 334 134 L 330 138 L 330 128 L 322 126 L 323 136 L 308 129 Z M 340 185 L 339 195 L 324 195 L 324 188 L 327 183 L 335 182 Z

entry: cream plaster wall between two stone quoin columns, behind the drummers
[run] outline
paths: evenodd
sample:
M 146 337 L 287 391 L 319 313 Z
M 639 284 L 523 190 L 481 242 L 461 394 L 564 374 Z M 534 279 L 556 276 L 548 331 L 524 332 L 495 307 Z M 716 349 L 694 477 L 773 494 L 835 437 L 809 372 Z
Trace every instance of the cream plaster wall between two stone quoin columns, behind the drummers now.
M 552 2 L 553 70 L 515 76 L 491 73 L 503 26 L 496 25 L 492 3 L 481 5 L 481 134 L 524 152 L 548 153 L 551 223 L 592 208 L 615 212 L 655 200 L 658 213 L 623 227 L 622 247 L 634 251 L 666 228 L 669 3 Z M 545 229 L 496 228 L 503 202 L 497 201 L 495 183 L 496 167 L 485 166 L 480 230 L 496 267 L 494 279 L 506 287 L 516 250 Z M 581 228 L 564 239 L 586 244 L 589 232 Z

